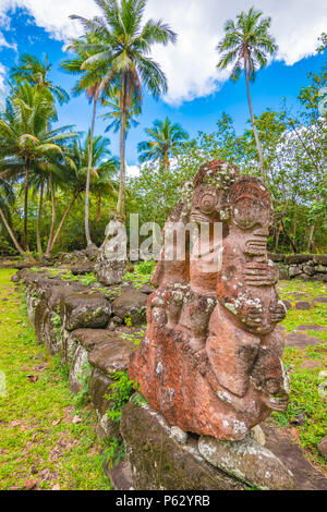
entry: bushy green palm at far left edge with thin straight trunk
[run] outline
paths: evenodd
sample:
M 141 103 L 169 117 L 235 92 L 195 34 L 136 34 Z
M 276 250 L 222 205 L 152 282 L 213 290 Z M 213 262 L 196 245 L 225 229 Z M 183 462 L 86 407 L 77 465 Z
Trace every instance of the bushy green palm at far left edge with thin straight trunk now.
M 53 115 L 53 102 L 28 82 L 13 89 L 7 101 L 7 110 L 0 119 L 0 171 L 2 176 L 23 178 L 24 248 L 29 252 L 27 240 L 27 203 L 29 172 L 40 162 L 64 158 L 62 144 L 75 136 L 64 133 L 70 126 L 48 131 Z M 51 179 L 51 172 L 50 172 Z

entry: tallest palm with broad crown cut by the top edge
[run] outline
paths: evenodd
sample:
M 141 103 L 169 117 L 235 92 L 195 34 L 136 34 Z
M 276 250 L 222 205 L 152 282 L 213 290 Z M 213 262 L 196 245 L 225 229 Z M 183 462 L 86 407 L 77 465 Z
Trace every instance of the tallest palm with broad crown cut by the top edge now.
M 174 42 L 177 35 L 161 20 L 148 20 L 142 25 L 146 0 L 95 0 L 102 17 L 78 20 L 99 42 L 82 44 L 81 49 L 93 53 L 82 69 L 96 66 L 104 73 L 100 88 L 113 84 L 120 88 L 120 186 L 117 214 L 124 218 L 125 120 L 134 103 L 142 103 L 143 86 L 157 98 L 167 92 L 167 80 L 150 57 L 152 46 Z

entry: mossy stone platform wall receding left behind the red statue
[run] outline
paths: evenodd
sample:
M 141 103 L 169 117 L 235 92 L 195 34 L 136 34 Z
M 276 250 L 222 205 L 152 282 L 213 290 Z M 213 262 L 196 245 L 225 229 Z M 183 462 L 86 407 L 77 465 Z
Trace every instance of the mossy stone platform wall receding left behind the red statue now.
M 60 353 L 62 364 L 69 365 L 73 393 L 78 393 L 81 381 L 89 376 L 98 435 L 117 435 L 117 424 L 107 419 L 110 402 L 104 394 L 112 383 L 111 374 L 128 369 L 135 349 L 131 334 L 145 322 L 147 293 L 133 290 L 129 283 L 114 289 L 99 283 L 85 287 L 62 280 L 60 272 L 53 277 L 47 269 L 23 269 L 19 277 L 38 342 L 51 355 Z M 132 327 L 124 325 L 125 317 L 133 318 Z

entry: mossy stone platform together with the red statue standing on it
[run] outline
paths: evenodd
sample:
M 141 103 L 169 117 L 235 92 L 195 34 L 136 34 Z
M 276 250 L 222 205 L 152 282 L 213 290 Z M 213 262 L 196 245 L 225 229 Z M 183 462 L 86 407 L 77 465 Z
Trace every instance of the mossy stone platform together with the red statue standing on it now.
M 70 365 L 73 392 L 88 373 L 98 435 L 124 441 L 126 459 L 108 472 L 114 488 L 327 488 L 312 467 L 303 481 L 308 463 L 300 449 L 258 427 L 286 410 L 289 392 L 278 327 L 286 307 L 266 252 L 271 215 L 261 180 L 215 160 L 183 185 L 153 287 L 113 285 L 105 252 L 96 265 L 101 282 L 87 287 L 65 282 L 64 268 L 56 276 L 20 271 L 38 341 Z M 186 229 L 184 258 L 175 256 L 172 222 L 181 231 L 208 227 L 207 236 Z M 135 348 L 131 334 L 145 320 Z M 104 395 L 112 373 L 126 369 L 141 394 L 124 405 L 119 425 L 108 419 Z

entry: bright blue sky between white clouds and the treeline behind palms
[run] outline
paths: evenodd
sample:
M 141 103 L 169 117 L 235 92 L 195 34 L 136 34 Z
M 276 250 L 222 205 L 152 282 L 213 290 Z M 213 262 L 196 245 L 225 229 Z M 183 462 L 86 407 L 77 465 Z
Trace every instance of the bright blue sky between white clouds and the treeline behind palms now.
M 62 25 L 60 25 L 60 19 L 56 19 L 53 15 L 56 23 L 51 25 L 51 12 L 49 11 L 48 23 L 47 17 L 45 17 L 47 14 L 37 11 L 37 9 L 39 9 L 38 0 L 1 0 L 1 2 L 2 1 L 7 2 L 5 5 L 3 4 L 4 7 L 2 7 L 2 26 L 0 25 L 0 71 L 2 72 L 2 76 L 4 78 L 8 77 L 9 69 L 17 62 L 17 58 L 21 53 L 28 52 L 37 57 L 48 53 L 53 64 L 50 78 L 55 83 L 60 84 L 68 92 L 71 92 L 76 78 L 60 69 L 60 62 L 66 57 L 64 52 L 64 39 L 72 35 L 70 28 L 64 26 L 66 16 L 62 17 Z M 58 3 L 60 3 L 60 1 L 61 0 L 59 0 Z M 84 0 L 84 3 L 87 0 Z M 175 1 L 179 2 L 183 0 Z M 210 0 L 205 1 L 209 2 Z M 48 0 L 44 0 L 43 3 L 47 4 L 47 2 Z M 82 0 L 81 2 L 83 3 Z M 92 2 L 92 0 L 88 0 L 88 2 Z M 66 0 L 65 4 L 66 3 L 70 3 L 69 0 Z M 235 3 L 238 3 L 238 8 L 240 4 L 242 7 L 243 3 L 244 8 L 247 7 L 246 1 L 238 1 Z M 326 13 L 326 9 L 323 8 L 324 3 L 327 2 L 320 3 L 322 9 Z M 72 13 L 78 13 L 78 10 L 76 11 L 76 9 L 78 9 L 77 5 L 78 4 L 72 5 Z M 58 8 L 59 7 L 60 5 L 58 5 Z M 57 14 L 57 12 L 55 14 Z M 90 14 L 93 15 L 93 13 Z M 196 13 L 194 13 L 194 15 L 196 16 Z M 278 15 L 278 13 L 276 13 L 276 15 Z M 181 123 L 191 136 L 196 136 L 197 131 L 210 132 L 215 130 L 217 119 L 222 111 L 226 111 L 234 119 L 235 127 L 239 133 L 244 129 L 249 119 L 244 78 L 241 78 L 239 83 L 234 84 L 226 80 L 226 74 L 219 75 L 215 70 L 215 60 L 218 60 L 218 56 L 215 54 L 214 48 L 220 38 L 225 20 L 226 19 L 221 20 L 217 28 L 217 36 L 214 34 L 214 37 L 211 36 L 210 40 L 206 41 L 207 45 L 210 44 L 213 46 L 213 49 L 211 46 L 210 48 L 208 47 L 208 60 L 210 61 L 211 69 L 208 66 L 208 63 L 205 62 L 206 57 L 196 53 L 196 51 L 198 51 L 198 45 L 195 40 L 192 42 L 192 37 L 189 46 L 184 45 L 183 49 L 183 39 L 181 40 L 181 38 L 184 34 L 185 41 L 189 40 L 186 38 L 190 36 L 186 31 L 183 32 L 183 27 L 181 28 L 182 34 L 180 34 L 180 47 L 175 49 L 177 62 L 174 62 L 173 58 L 171 62 L 168 60 L 169 56 L 173 56 L 171 49 L 160 49 L 158 59 L 160 60 L 160 58 L 162 58 L 162 66 L 165 69 L 166 64 L 168 78 L 171 76 L 170 93 L 168 98 L 160 99 L 159 101 L 154 101 L 150 97 L 145 95 L 143 113 L 138 118 L 140 125 L 131 130 L 128 138 L 126 161 L 129 166 L 137 163 L 137 143 L 145 136 L 144 129 L 150 126 L 155 119 L 164 119 L 168 115 L 173 122 Z M 175 24 L 178 24 L 178 21 L 179 20 L 175 19 Z M 325 21 L 327 21 L 327 16 Z M 168 22 L 170 22 L 170 20 L 168 20 Z M 194 23 L 194 20 L 191 20 L 190 23 Z M 317 35 L 323 32 L 319 23 L 315 27 L 315 31 L 306 36 L 306 48 L 308 48 L 306 56 L 303 54 L 305 50 L 303 50 L 302 47 L 300 48 L 300 46 L 303 45 L 302 39 L 304 36 L 301 26 L 299 27 L 298 35 L 298 53 L 295 47 L 291 48 L 288 46 L 291 44 L 296 45 L 296 33 L 294 33 L 295 35 L 292 36 L 289 44 L 286 40 L 286 35 L 282 32 L 280 33 L 280 40 L 283 47 L 280 50 L 279 60 L 274 61 L 266 70 L 263 70 L 258 74 L 257 81 L 252 86 L 252 99 L 255 113 L 259 114 L 268 107 L 277 109 L 281 105 L 283 97 L 287 98 L 287 105 L 289 107 L 298 108 L 296 96 L 300 88 L 308 83 L 308 72 L 318 71 L 326 60 L 322 54 L 311 54 L 314 53 Z M 299 20 L 296 24 L 299 25 Z M 327 26 L 326 23 L 325 26 Z M 173 28 L 179 32 L 175 26 L 173 26 Z M 75 27 L 74 31 L 76 31 Z M 292 34 L 292 31 L 290 29 L 289 33 Z M 310 39 L 307 37 L 310 37 Z M 279 42 L 278 35 L 277 42 Z M 195 47 L 193 48 L 192 45 L 195 45 Z M 187 47 L 186 50 L 185 46 Z M 165 51 L 167 51 L 166 56 Z M 183 57 L 183 51 L 187 52 L 187 57 L 185 57 L 185 53 Z M 192 64 L 193 51 L 196 64 Z M 190 65 L 187 69 L 182 65 L 189 58 L 189 64 L 191 66 L 194 65 L 194 77 L 192 77 L 190 73 Z M 180 62 L 181 65 L 179 65 Z M 175 69 L 173 69 L 174 64 Z M 173 73 L 171 73 L 171 69 Z M 202 70 L 203 75 L 199 76 Z M 199 78 L 196 81 L 197 76 L 199 76 Z M 92 107 L 88 105 L 84 95 L 77 98 L 72 97 L 68 105 L 59 108 L 60 124 L 74 124 L 78 131 L 87 131 L 90 114 Z M 105 122 L 101 119 L 97 119 L 96 133 L 104 134 L 105 127 Z M 118 154 L 119 134 L 109 133 L 108 136 L 111 139 L 112 153 Z

